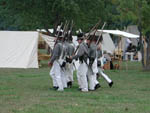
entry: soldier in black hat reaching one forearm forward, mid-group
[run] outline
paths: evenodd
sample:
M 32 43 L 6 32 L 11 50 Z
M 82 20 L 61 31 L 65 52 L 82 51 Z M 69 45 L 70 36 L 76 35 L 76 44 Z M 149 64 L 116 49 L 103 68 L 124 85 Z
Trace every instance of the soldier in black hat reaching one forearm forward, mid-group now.
M 88 81 L 87 81 L 87 71 L 88 71 L 88 66 L 87 66 L 87 59 L 88 59 L 88 46 L 84 42 L 84 37 L 83 33 L 79 33 L 77 37 L 77 41 L 79 43 L 78 47 L 78 52 L 75 56 L 70 57 L 70 59 L 67 59 L 68 62 L 69 60 L 74 60 L 74 59 L 79 59 L 80 65 L 77 69 L 77 79 L 78 79 L 78 84 L 79 88 L 82 92 L 87 92 L 88 91 Z

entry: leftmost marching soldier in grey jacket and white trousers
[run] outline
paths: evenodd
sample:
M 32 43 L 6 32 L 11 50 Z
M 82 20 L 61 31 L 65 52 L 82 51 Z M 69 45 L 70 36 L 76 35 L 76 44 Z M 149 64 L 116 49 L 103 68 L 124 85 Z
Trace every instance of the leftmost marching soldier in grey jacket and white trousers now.
M 52 52 L 52 56 L 50 61 L 48 62 L 48 65 L 51 67 L 52 69 L 50 71 L 50 75 L 52 77 L 52 81 L 53 81 L 53 86 L 54 88 L 57 89 L 57 91 L 63 91 L 64 90 L 64 86 L 63 86 L 63 82 L 62 82 L 62 67 L 63 67 L 63 59 L 62 59 L 62 54 L 63 54 L 63 45 L 62 45 L 62 33 L 60 33 L 60 35 L 57 38 L 57 42 L 56 45 L 54 46 L 53 52 Z

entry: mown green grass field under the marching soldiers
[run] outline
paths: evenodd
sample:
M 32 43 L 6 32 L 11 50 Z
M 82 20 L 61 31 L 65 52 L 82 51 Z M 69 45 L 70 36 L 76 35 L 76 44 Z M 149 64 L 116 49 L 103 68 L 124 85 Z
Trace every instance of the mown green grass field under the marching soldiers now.
M 112 88 L 100 78 L 101 88 L 78 91 L 52 89 L 47 62 L 39 69 L 0 69 L 0 113 L 150 113 L 150 72 L 128 62 L 122 70 L 106 70 Z M 125 65 L 125 64 L 124 64 Z

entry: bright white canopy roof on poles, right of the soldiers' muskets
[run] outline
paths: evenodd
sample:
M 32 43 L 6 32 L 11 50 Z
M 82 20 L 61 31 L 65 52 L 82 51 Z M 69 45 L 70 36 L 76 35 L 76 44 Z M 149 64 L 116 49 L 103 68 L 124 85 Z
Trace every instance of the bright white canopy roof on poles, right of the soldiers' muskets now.
M 128 37 L 128 38 L 139 38 L 139 35 L 134 35 L 120 30 L 98 30 L 98 32 L 104 32 L 104 33 L 109 33 L 109 34 Z

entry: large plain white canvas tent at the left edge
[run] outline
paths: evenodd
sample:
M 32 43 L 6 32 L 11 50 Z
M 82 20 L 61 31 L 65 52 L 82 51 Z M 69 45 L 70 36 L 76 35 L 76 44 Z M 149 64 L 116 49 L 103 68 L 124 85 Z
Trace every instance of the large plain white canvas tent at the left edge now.
M 38 32 L 0 31 L 0 68 L 38 68 Z

